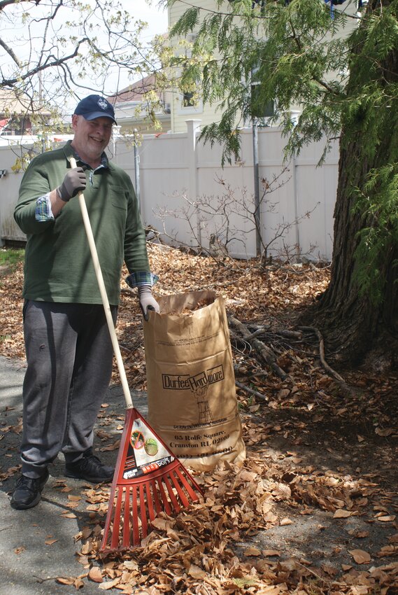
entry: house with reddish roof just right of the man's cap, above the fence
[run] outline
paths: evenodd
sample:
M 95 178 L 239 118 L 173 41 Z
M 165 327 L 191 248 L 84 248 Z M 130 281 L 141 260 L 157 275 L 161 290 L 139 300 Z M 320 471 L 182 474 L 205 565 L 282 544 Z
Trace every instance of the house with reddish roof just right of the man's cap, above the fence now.
M 122 134 L 154 134 L 171 130 L 171 92 L 159 90 L 156 75 L 145 76 L 136 83 L 108 97 Z M 154 125 L 148 111 L 154 112 L 160 128 Z

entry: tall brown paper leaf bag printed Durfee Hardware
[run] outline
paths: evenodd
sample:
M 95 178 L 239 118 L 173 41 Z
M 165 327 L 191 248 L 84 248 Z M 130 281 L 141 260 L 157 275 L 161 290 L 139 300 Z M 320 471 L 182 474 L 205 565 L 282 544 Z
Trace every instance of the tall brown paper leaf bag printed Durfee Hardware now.
M 211 470 L 246 456 L 222 297 L 160 297 L 144 324 L 148 421 L 182 461 Z

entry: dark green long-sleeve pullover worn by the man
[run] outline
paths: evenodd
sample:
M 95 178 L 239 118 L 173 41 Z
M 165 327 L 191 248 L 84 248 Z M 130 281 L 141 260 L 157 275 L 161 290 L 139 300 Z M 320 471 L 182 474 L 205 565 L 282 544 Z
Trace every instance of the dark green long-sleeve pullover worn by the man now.
M 36 200 L 59 186 L 73 155 L 70 142 L 34 158 L 24 174 L 15 207 L 17 225 L 27 235 L 23 296 L 29 300 L 101 304 L 90 247 L 77 197 L 50 221 L 37 221 Z M 78 163 L 79 165 L 79 163 Z M 90 175 L 91 174 L 91 175 Z M 86 171 L 87 211 L 110 304 L 118 304 L 120 272 L 149 272 L 145 230 L 129 176 L 120 167 Z

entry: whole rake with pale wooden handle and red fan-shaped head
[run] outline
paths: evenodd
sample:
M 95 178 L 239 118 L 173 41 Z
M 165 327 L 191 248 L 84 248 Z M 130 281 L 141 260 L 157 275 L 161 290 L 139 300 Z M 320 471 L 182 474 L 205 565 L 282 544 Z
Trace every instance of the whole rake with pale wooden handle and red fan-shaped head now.
M 77 167 L 73 158 L 71 167 Z M 159 512 L 178 513 L 199 500 L 203 491 L 133 405 L 83 192 L 78 193 L 78 200 L 126 401 L 100 547 L 101 552 L 114 552 L 140 545 Z

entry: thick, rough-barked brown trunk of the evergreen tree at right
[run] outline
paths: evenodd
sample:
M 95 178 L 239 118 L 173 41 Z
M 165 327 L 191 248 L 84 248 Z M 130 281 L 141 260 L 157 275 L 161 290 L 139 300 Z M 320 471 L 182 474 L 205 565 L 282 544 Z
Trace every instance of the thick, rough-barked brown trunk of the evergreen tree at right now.
M 369 13 L 378 10 L 378 0 L 369 2 Z M 364 24 L 364 26 L 366 26 Z M 359 52 L 362 48 L 355 48 Z M 353 52 L 354 55 L 354 52 Z M 381 94 L 391 92 L 398 83 L 398 51 L 393 49 L 382 62 L 378 71 L 369 68 L 369 79 L 364 80 L 351 73 L 348 94 L 360 96 L 361 85 L 369 81 L 380 81 Z M 395 86 L 395 89 L 397 87 Z M 334 248 L 329 287 L 312 311 L 315 325 L 322 328 L 329 358 L 336 363 L 357 366 L 367 356 L 367 364 L 377 363 L 385 367 L 394 363 L 398 337 L 398 244 L 391 234 L 385 246 L 379 270 L 385 279 L 382 299 L 378 304 L 360 295 L 355 280 L 355 249 L 359 232 L 367 221 L 360 214 L 353 214 L 355 193 L 353 188 L 364 188 L 367 174 L 373 168 L 397 162 L 398 107 L 397 96 L 391 97 L 388 109 L 383 113 L 374 105 L 364 107 L 362 121 L 378 118 L 382 132 L 376 143 L 376 151 L 369 157 L 369 133 L 363 132 L 361 122 L 346 120 L 341 135 L 339 160 L 339 183 L 334 211 Z M 369 130 L 369 128 L 367 129 Z M 397 205 L 398 208 L 398 205 Z M 308 320 L 308 317 L 307 317 Z M 377 358 L 377 361 L 376 361 Z

